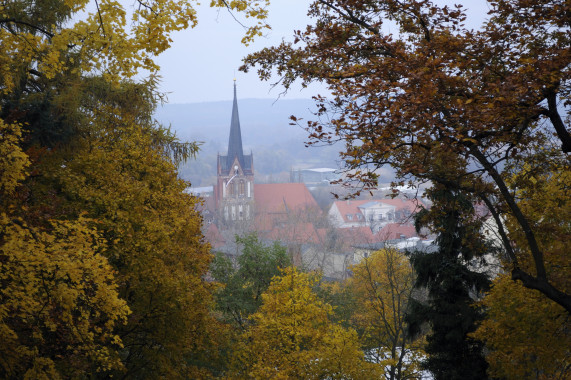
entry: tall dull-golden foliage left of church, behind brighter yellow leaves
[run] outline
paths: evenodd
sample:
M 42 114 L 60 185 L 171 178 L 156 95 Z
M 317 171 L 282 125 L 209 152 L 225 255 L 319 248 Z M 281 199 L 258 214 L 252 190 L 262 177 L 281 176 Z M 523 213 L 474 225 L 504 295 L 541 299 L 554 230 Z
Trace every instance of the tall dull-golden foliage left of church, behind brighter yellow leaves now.
M 118 329 L 131 353 L 127 370 L 151 363 L 153 372 L 184 378 L 187 360 L 210 349 L 209 335 L 217 334 L 211 285 L 202 278 L 211 255 L 198 201 L 183 192 L 187 183 L 152 129 L 118 107 L 101 106 L 92 117 L 73 159 L 50 175 L 66 207 L 86 211 L 108 240 L 104 254 L 132 310 Z

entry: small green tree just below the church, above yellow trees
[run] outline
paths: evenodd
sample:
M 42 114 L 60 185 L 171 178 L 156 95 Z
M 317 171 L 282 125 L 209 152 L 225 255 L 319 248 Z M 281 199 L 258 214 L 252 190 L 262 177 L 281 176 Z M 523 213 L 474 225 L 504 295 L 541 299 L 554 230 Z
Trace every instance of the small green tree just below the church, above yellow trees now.
M 222 284 L 216 293 L 216 303 L 224 319 L 240 329 L 248 326 L 248 317 L 262 304 L 262 294 L 270 286 L 281 268 L 291 265 L 286 248 L 278 242 L 271 246 L 262 243 L 255 233 L 236 236 L 236 244 L 243 245 L 236 267 L 219 253 L 212 262 L 212 276 Z

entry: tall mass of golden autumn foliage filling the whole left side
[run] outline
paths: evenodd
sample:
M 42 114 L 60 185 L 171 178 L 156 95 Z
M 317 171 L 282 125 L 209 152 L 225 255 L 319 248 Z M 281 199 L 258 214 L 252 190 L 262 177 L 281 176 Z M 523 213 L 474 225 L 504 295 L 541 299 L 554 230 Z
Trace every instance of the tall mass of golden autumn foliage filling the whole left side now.
M 196 12 L 88 3 L 0 1 L 0 374 L 205 377 L 211 256 L 176 172 L 197 146 L 152 119 L 153 57 Z M 212 2 L 247 39 L 264 4 Z

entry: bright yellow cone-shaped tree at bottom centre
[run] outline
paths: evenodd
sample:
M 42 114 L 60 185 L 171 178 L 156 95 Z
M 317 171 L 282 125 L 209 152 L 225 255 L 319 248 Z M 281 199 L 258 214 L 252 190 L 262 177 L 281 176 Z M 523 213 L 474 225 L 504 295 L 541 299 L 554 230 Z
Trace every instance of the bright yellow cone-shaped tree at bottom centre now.
M 313 292 L 316 281 L 292 267 L 274 278 L 236 350 L 232 378 L 375 377 L 355 331 L 329 321 L 332 308 Z

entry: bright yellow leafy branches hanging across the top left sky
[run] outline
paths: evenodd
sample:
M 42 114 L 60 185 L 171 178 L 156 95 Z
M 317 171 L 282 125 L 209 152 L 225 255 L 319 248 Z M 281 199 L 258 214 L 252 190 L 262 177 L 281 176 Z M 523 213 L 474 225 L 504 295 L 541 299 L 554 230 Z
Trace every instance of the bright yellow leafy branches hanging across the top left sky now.
M 58 4 L 59 3 L 59 4 Z M 131 78 L 141 71 L 156 73 L 154 57 L 171 45 L 173 32 L 194 27 L 198 18 L 192 0 L 141 1 L 127 13 L 115 0 L 99 0 L 88 11 L 88 0 L 61 0 L 45 14 L 47 20 L 29 20 L 23 13 L 36 12 L 33 2 L 3 2 L 0 28 L 0 90 L 9 93 L 17 83 L 14 73 L 29 67 L 47 79 L 65 72 L 105 76 L 110 81 Z M 256 20 L 246 28 L 244 43 L 251 42 L 269 26 L 269 0 L 212 1 L 212 7 L 228 7 Z M 84 17 L 78 17 L 84 12 Z M 70 21 L 73 20 L 73 21 Z M 28 72 L 34 77 L 37 73 Z

